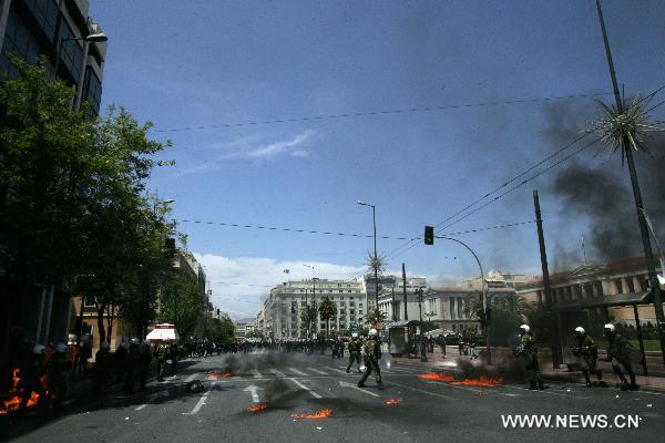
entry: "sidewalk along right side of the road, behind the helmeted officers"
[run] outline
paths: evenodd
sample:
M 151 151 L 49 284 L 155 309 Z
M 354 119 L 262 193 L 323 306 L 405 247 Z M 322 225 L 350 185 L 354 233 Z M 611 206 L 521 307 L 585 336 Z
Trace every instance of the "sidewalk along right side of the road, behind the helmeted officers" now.
M 492 359 L 501 359 L 501 353 L 497 352 L 499 349 L 492 348 Z M 434 348 L 433 353 L 427 354 L 427 362 L 421 362 L 420 358 L 407 358 L 407 357 L 391 357 L 391 361 L 396 363 L 410 364 L 410 365 L 420 365 L 423 368 L 423 371 L 453 371 L 459 367 L 460 362 L 471 361 L 471 362 L 481 362 L 484 360 L 485 350 L 484 348 L 477 348 L 477 353 L 479 356 L 478 360 L 470 360 L 468 356 L 460 356 L 458 351 L 458 347 L 447 347 L 446 349 L 446 358 L 443 358 L 440 348 Z M 549 353 L 546 354 L 549 357 Z M 549 360 L 549 359 L 548 359 Z M 618 379 L 614 375 L 612 371 L 612 365 L 608 362 L 601 361 L 598 359 L 598 368 L 603 371 L 603 380 L 610 384 L 614 385 L 618 383 Z M 638 374 L 642 372 L 642 367 L 634 365 L 633 368 L 635 373 Z M 556 380 L 567 383 L 581 383 L 584 384 L 584 375 L 580 371 L 569 372 L 565 365 L 554 369 L 552 368 L 551 361 L 545 361 L 545 359 L 541 360 L 541 371 L 542 375 L 545 379 Z M 656 391 L 665 391 L 665 372 L 661 368 L 661 371 L 657 371 L 657 368 L 652 369 L 649 367 L 649 377 L 645 375 L 636 375 L 636 383 L 643 388 L 653 389 Z M 626 375 L 627 377 L 627 375 Z M 595 377 L 592 377 L 592 381 L 595 380 Z

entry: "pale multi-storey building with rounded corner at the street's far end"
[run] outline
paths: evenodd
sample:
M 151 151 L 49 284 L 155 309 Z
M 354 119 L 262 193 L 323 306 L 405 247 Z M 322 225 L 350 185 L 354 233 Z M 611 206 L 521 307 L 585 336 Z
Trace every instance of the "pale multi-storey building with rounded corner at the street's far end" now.
M 328 297 L 337 305 L 337 316 L 330 320 L 330 330 L 360 327 L 367 313 L 367 296 L 362 281 L 308 279 L 286 281 L 270 290 L 257 316 L 257 327 L 264 334 L 275 340 L 306 338 L 306 324 L 301 312 L 313 302 L 317 305 Z M 326 330 L 326 322 L 317 317 L 315 329 L 318 333 Z

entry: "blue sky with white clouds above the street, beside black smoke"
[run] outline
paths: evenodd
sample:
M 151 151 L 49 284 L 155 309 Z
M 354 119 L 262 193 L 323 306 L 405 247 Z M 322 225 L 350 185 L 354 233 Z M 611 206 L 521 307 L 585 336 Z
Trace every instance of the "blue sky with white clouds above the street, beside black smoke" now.
M 626 94 L 665 84 L 665 3 L 606 0 L 604 10 Z M 163 157 L 177 166 L 155 172 L 151 186 L 176 199 L 176 219 L 371 234 L 371 210 L 355 204 L 362 199 L 377 206 L 379 235 L 418 236 L 573 140 L 596 116 L 594 99 L 557 102 L 589 113 L 572 119 L 567 138 L 552 135 L 559 122 L 546 101 L 303 117 L 611 91 L 592 0 L 92 0 L 90 16 L 109 35 L 103 103 L 173 142 Z M 211 125 L 223 127 L 165 131 Z M 622 167 L 591 153 L 576 161 Z M 446 231 L 531 220 L 539 188 L 549 246 L 577 250 L 592 227 L 549 193 L 553 174 Z M 372 247 L 370 238 L 178 228 L 206 265 L 215 305 L 235 318 L 256 313 L 283 269 L 355 277 Z M 459 238 L 487 269 L 540 272 L 533 225 Z M 389 254 L 402 244 L 379 239 L 389 269 L 406 262 L 432 281 L 477 274 L 452 243 Z

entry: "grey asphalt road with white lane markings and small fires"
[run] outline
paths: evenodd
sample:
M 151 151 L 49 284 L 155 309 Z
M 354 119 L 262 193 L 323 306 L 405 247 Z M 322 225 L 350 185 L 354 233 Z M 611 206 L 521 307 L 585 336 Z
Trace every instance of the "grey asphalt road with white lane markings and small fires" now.
M 152 382 L 143 393 L 113 393 L 103 400 L 82 396 L 58 413 L 0 426 L 0 441 L 12 442 L 618 442 L 659 441 L 665 432 L 665 394 L 622 392 L 550 383 L 544 391 L 523 384 L 497 388 L 424 381 L 419 365 L 387 367 L 385 390 L 346 361 L 301 354 L 234 354 L 181 362 L 181 371 Z M 233 377 L 214 377 L 209 372 Z M 206 390 L 188 393 L 186 382 Z M 401 403 L 387 405 L 390 399 Z M 265 403 L 266 409 L 247 408 Z M 294 419 L 330 409 L 326 419 Z M 606 429 L 505 427 L 505 414 L 605 414 Z M 638 416 L 632 429 L 617 429 L 621 416 Z M 570 419 L 573 416 L 573 419 Z M 563 420 L 563 419 L 560 419 Z M 661 435 L 661 437 L 658 437 Z M 644 439 L 644 440 L 643 440 Z

